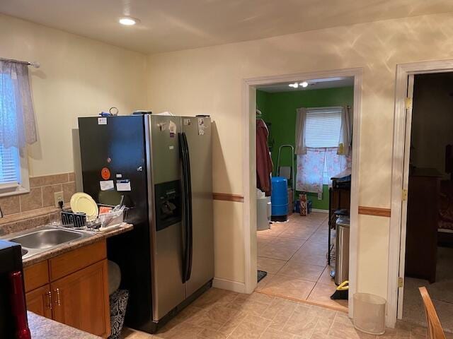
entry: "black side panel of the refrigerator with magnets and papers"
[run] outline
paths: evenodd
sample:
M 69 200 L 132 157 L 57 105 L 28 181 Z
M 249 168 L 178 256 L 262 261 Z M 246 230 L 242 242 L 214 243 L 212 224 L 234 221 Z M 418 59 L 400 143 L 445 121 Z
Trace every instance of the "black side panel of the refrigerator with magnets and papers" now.
M 108 205 L 117 205 L 123 195 L 130 208 L 125 221 L 132 223 L 134 230 L 109 238 L 107 248 L 109 260 L 121 268 L 120 288 L 130 292 L 126 325 L 137 328 L 152 319 L 143 117 L 79 118 L 79 136 L 84 191 L 97 203 Z M 109 173 L 110 178 L 105 179 Z M 101 182 L 106 180 L 113 180 L 113 189 L 102 191 Z M 126 191 L 117 191 L 120 180 Z M 105 186 L 111 187 L 111 183 Z

